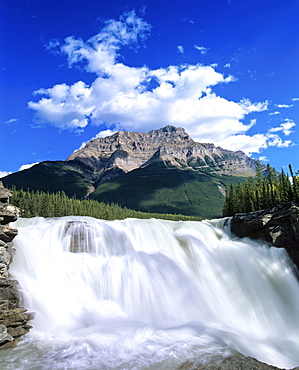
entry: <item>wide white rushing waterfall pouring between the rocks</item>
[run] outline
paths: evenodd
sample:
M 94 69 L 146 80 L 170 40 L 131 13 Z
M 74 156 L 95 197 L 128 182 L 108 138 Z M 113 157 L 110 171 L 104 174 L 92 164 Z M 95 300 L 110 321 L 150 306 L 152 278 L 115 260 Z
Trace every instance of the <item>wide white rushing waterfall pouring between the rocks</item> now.
M 298 366 L 289 258 L 223 223 L 18 220 L 10 272 L 35 319 L 1 369 L 167 370 L 236 352 Z

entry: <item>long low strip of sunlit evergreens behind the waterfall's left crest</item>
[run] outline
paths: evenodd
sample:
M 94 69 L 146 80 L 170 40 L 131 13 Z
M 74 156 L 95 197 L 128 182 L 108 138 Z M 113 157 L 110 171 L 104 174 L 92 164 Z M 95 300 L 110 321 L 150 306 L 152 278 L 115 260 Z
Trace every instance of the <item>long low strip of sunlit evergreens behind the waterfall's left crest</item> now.
M 199 218 L 145 213 L 117 204 L 106 204 L 96 200 L 79 200 L 69 198 L 63 191 L 57 193 L 45 193 L 42 191 L 24 191 L 12 188 L 11 203 L 18 207 L 20 217 L 62 217 L 62 216 L 90 216 L 104 220 L 122 220 L 125 218 L 160 218 L 167 220 L 199 220 Z

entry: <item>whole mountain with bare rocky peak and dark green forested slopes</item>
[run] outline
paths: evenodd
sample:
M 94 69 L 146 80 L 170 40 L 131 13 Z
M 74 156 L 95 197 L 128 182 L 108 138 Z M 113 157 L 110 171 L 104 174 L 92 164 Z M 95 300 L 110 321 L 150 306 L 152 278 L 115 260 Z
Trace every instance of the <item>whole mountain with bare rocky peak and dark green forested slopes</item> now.
M 41 162 L 2 180 L 5 186 L 63 190 L 145 212 L 210 218 L 221 216 L 225 186 L 254 176 L 257 163 L 166 126 L 93 139 L 66 161 Z

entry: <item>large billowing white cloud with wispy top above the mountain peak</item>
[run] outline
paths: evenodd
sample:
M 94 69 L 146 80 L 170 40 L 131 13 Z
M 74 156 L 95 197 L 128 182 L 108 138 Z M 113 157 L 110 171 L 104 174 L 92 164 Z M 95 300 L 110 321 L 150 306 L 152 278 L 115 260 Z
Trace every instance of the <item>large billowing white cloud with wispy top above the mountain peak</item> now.
M 106 125 L 108 130 L 143 132 L 171 124 L 184 127 L 197 141 L 247 153 L 270 145 L 290 145 L 279 141 L 278 136 L 278 132 L 288 132 L 286 123 L 265 134 L 247 134 L 255 122 L 244 123 L 245 116 L 267 110 L 268 102 L 246 98 L 235 102 L 217 95 L 214 86 L 236 79 L 217 72 L 216 66 L 184 64 L 150 69 L 121 63 L 120 49 L 139 47 L 150 29 L 132 11 L 119 20 L 107 21 L 86 42 L 67 37 L 59 50 L 66 55 L 69 67 L 80 66 L 94 73 L 95 79 L 90 84 L 62 83 L 35 91 L 36 101 L 30 101 L 28 106 L 35 111 L 36 123 L 60 129 L 83 130 L 92 124 Z M 58 47 L 54 41 L 51 44 Z M 201 53 L 207 51 L 205 47 L 195 47 Z

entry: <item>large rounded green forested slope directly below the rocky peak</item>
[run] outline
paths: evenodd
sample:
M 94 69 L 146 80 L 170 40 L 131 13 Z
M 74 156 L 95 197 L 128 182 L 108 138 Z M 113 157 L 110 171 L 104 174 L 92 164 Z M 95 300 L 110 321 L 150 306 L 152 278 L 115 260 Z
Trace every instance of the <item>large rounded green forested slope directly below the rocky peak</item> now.
M 141 212 L 217 218 L 222 215 L 225 186 L 240 180 L 246 178 L 156 162 L 100 185 L 89 198 Z

